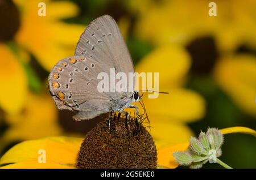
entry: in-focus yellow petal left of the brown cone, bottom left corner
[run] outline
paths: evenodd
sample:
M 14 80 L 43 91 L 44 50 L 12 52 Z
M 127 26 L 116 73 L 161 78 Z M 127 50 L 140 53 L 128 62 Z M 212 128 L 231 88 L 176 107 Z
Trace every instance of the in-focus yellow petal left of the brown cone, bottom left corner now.
M 63 136 L 28 140 L 15 145 L 7 151 L 5 155 L 1 157 L 0 165 L 10 163 L 20 163 L 20 165 L 22 165 L 26 162 L 28 166 L 31 166 L 31 164 L 38 161 L 38 158 L 40 158 L 40 154 L 38 154 L 40 149 L 43 149 L 46 152 L 45 166 L 47 166 L 47 168 L 50 168 L 51 165 L 56 163 L 59 165 L 74 165 L 81 143 L 82 138 Z M 15 168 L 26 167 L 18 167 L 17 165 Z M 56 166 L 53 166 L 52 168 L 56 168 Z

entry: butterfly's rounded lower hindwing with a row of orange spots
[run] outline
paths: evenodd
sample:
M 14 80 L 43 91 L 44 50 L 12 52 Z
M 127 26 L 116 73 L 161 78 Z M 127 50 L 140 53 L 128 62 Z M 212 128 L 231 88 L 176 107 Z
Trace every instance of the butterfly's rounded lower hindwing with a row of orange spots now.
M 92 58 L 73 56 L 59 61 L 49 74 L 49 91 L 58 109 L 80 111 L 74 118 L 90 119 L 108 112 L 106 93 L 97 90 L 104 67 Z

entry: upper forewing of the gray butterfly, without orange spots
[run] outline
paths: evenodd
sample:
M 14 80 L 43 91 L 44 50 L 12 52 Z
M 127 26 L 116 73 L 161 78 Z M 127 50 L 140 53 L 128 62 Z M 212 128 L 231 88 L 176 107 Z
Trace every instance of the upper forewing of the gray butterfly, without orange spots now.
M 115 73 L 134 72 L 133 61 L 127 49 L 125 41 L 121 35 L 115 20 L 104 15 L 93 20 L 82 33 L 76 46 L 75 55 L 82 55 L 86 58 L 93 58 L 97 64 L 104 66 L 104 72 L 110 72 L 110 68 L 115 68 Z M 132 89 L 135 87 L 135 78 Z M 110 93 L 109 96 L 118 99 L 122 96 L 130 97 L 133 92 Z

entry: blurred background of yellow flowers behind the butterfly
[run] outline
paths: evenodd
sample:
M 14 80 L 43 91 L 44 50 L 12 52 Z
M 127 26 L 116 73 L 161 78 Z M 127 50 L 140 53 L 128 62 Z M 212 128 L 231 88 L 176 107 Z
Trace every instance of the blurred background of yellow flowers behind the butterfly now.
M 46 16 L 38 15 L 39 2 Z M 159 72 L 159 90 L 171 92 L 143 99 L 158 147 L 187 142 L 208 127 L 256 129 L 256 2 L 214 1 L 217 16 L 209 16 L 210 2 L 0 1 L 0 156 L 23 140 L 84 137 L 102 121 L 75 122 L 74 113 L 57 110 L 47 77 L 104 14 L 117 21 L 135 71 Z M 226 139 L 227 164 L 256 168 L 252 137 Z

